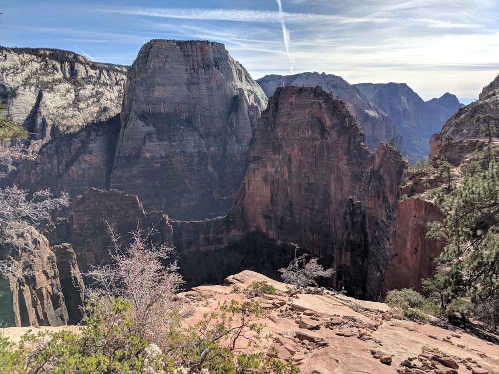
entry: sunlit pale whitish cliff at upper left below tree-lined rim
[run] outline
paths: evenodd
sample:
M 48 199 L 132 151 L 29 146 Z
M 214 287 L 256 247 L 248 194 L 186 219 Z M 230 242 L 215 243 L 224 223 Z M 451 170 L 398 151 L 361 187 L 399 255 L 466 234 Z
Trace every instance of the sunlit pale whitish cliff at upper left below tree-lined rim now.
M 69 51 L 0 47 L 0 101 L 32 133 L 37 150 L 61 133 L 118 114 L 126 70 Z

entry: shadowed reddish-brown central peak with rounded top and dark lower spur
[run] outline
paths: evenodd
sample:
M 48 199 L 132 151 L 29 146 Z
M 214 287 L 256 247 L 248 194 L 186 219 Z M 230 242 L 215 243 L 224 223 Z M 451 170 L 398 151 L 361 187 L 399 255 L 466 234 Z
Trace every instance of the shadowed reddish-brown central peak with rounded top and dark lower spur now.
M 406 168 L 386 145 L 369 152 L 342 100 L 320 87 L 279 87 L 229 218 L 323 257 L 336 270 L 334 288 L 377 298 Z

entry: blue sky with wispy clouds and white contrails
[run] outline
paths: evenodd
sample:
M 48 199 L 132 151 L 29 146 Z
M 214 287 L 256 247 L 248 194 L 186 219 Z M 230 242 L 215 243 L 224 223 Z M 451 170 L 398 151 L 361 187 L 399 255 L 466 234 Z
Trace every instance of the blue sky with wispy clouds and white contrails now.
M 150 39 L 222 42 L 253 78 L 318 71 L 465 103 L 499 74 L 497 0 L 15 0 L 0 45 L 131 64 Z

